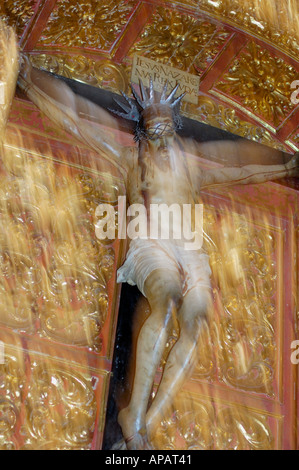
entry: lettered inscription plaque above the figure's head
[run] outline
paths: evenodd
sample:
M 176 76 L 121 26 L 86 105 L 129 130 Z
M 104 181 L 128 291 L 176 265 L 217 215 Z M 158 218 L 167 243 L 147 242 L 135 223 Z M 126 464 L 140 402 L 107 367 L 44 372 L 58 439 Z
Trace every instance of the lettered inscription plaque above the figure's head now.
M 184 100 L 197 104 L 199 77 L 135 54 L 131 75 L 132 83 L 139 84 L 139 80 L 142 80 L 144 86 L 149 86 L 150 77 L 153 80 L 154 90 L 161 92 L 166 80 L 168 80 L 168 91 L 178 84 L 177 95 L 186 93 Z

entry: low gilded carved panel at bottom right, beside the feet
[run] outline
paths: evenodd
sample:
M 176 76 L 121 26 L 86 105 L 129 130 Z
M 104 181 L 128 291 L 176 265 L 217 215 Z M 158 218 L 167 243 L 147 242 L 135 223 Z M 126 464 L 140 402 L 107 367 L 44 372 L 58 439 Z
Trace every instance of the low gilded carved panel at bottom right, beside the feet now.
M 181 392 L 153 436 L 161 450 L 274 450 L 279 417 Z M 271 429 L 272 428 L 272 429 Z

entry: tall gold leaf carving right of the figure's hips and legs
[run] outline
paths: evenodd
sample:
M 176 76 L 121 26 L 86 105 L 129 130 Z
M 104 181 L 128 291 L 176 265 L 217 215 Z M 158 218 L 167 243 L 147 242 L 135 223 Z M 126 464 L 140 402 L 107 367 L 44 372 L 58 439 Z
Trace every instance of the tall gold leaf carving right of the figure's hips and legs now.
M 216 361 L 217 374 L 211 368 L 213 374 L 206 375 L 210 380 L 273 395 L 277 235 L 270 229 L 270 221 L 265 219 L 262 226 L 253 223 L 249 211 L 247 218 L 212 207 L 206 212 L 205 230 L 212 240 L 208 244 L 210 265 L 223 311 L 211 328 L 212 345 L 201 347 L 194 377 L 203 378 L 203 365 Z

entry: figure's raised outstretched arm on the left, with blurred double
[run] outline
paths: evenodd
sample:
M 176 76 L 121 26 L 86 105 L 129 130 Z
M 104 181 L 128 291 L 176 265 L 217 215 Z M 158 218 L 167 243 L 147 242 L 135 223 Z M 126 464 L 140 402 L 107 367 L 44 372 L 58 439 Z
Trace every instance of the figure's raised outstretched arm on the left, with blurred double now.
M 124 148 L 93 124 L 117 128 L 116 120 L 104 109 L 76 95 L 62 80 L 31 66 L 22 57 L 18 85 L 28 98 L 57 126 L 126 171 Z

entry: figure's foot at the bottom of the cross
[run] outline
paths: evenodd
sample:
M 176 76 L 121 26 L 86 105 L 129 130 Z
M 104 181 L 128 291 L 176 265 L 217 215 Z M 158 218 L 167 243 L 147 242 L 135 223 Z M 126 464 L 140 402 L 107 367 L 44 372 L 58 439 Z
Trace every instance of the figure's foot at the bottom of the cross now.
M 136 419 L 131 413 L 130 407 L 124 408 L 118 415 L 118 422 L 121 426 L 125 443 L 128 450 L 150 450 L 146 428 L 137 427 Z

